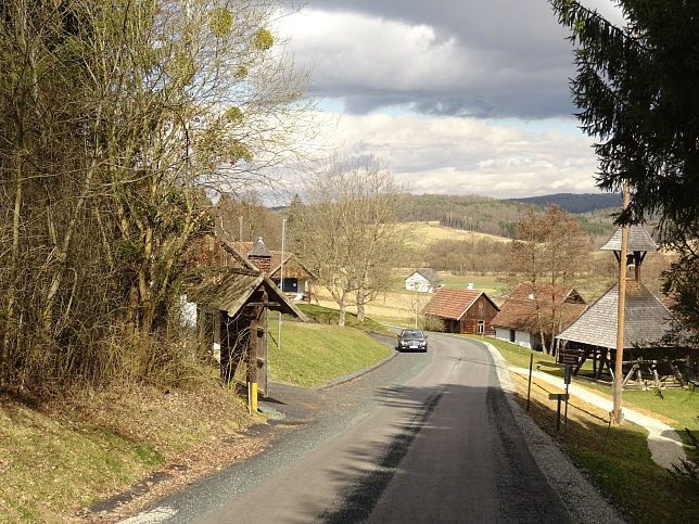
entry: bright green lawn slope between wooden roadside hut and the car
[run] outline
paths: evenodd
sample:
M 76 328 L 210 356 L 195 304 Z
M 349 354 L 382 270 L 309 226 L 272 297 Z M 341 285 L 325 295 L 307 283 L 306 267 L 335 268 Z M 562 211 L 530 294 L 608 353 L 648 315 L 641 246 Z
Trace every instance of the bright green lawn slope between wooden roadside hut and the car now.
M 269 329 L 276 334 L 278 323 L 270 321 Z M 281 349 L 276 337 L 268 345 L 270 374 L 303 387 L 368 368 L 392 350 L 361 330 L 333 324 L 283 322 Z

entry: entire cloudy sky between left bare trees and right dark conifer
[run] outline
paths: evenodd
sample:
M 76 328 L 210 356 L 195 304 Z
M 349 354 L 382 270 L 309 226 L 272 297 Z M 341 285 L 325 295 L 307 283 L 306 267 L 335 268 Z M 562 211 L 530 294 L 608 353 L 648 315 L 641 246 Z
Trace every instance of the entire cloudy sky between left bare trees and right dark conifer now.
M 621 20 L 610 0 L 584 0 Z M 415 193 L 597 192 L 572 116 L 572 47 L 546 0 L 310 0 L 285 17 L 340 156 Z

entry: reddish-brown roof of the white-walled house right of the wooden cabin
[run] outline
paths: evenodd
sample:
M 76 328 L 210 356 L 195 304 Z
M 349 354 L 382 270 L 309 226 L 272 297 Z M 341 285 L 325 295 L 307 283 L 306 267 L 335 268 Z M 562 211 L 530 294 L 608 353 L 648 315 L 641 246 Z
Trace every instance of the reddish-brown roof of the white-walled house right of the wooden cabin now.
M 532 332 L 538 331 L 536 303 L 533 297 L 530 298 L 533 289 L 532 284 L 525 282 L 519 284 L 500 306 L 500 312 L 493 319 L 493 325 Z M 561 318 L 563 329 L 577 319 L 587 307 L 583 298 L 572 287 L 551 287 L 550 284 L 538 284 L 539 314 L 543 319 L 544 331 L 547 333 L 551 331 L 551 317 L 554 315 L 550 299 L 551 289 L 556 292 L 554 301 L 558 304 L 556 308 L 557 316 L 561 311 L 559 309 L 561 301 L 564 303 Z

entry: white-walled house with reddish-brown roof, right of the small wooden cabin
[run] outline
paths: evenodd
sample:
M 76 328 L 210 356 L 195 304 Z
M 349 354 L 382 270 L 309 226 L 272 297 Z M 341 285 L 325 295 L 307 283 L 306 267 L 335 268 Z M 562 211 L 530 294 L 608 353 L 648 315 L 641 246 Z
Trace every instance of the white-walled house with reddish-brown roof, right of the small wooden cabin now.
M 493 319 L 495 337 L 530 349 L 541 349 L 539 317 L 545 343 L 548 345 L 554 331 L 560 333 L 568 328 L 585 307 L 585 301 L 573 287 L 550 284 L 537 284 L 534 287 L 531 283 L 522 282 L 503 303 L 500 311 Z

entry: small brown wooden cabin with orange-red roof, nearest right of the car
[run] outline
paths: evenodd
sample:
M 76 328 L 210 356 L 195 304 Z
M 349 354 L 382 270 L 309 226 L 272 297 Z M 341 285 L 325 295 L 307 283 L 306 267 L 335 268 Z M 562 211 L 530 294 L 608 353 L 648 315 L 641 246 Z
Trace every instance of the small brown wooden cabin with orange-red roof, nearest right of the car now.
M 441 319 L 448 333 L 493 334 L 498 307 L 482 291 L 440 287 L 421 314 Z

